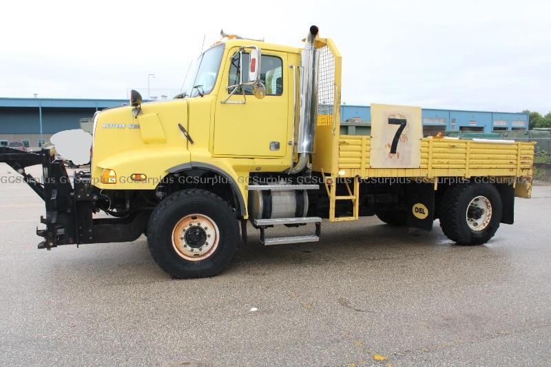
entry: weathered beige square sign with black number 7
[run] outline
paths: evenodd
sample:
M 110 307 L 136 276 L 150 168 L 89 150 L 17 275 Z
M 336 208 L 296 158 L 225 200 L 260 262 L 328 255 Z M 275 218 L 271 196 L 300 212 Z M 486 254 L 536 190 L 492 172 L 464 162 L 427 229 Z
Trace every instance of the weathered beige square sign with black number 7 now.
M 422 137 L 421 107 L 371 105 L 371 167 L 419 168 Z

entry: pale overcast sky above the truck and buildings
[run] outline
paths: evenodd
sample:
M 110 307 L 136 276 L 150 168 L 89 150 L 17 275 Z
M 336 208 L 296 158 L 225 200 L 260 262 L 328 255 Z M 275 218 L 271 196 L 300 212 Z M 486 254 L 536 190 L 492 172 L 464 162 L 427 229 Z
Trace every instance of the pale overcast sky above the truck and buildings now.
M 315 24 L 342 53 L 346 104 L 551 110 L 549 1 L 6 1 L 1 14 L 0 97 L 127 98 L 148 74 L 179 90 L 203 36 L 300 46 Z

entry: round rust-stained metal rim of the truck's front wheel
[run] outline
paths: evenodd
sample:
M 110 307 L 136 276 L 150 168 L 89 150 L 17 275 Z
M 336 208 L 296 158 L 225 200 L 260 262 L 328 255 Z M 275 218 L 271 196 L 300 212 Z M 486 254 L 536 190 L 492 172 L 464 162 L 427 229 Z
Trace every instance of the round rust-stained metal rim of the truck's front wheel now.
M 172 246 L 180 257 L 189 261 L 205 260 L 216 251 L 220 234 L 218 226 L 203 214 L 189 214 L 172 230 Z

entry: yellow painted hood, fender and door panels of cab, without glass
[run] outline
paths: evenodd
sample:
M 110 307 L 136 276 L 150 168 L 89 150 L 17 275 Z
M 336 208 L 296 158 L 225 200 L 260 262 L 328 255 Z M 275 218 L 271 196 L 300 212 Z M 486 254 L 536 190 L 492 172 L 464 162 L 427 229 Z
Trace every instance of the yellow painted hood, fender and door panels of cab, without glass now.
M 251 171 L 283 171 L 291 165 L 293 135 L 293 75 L 290 65 L 300 64 L 300 49 L 256 41 L 224 42 L 220 72 L 211 93 L 187 99 L 143 103 L 141 113 L 132 107 L 107 109 L 97 116 L 92 152 L 92 182 L 100 189 L 155 189 L 171 167 L 188 162 L 213 165 L 231 176 L 247 202 Z M 283 93 L 262 100 L 247 96 L 246 104 L 222 104 L 228 96 L 231 56 L 242 45 L 258 45 L 262 55 L 282 59 Z M 296 80 L 298 85 L 298 79 Z M 242 101 L 235 94 L 229 101 Z M 194 144 L 180 132 L 183 125 Z M 280 150 L 269 143 L 278 141 Z M 115 184 L 101 182 L 103 169 L 116 172 Z M 134 182 L 132 174 L 147 180 Z

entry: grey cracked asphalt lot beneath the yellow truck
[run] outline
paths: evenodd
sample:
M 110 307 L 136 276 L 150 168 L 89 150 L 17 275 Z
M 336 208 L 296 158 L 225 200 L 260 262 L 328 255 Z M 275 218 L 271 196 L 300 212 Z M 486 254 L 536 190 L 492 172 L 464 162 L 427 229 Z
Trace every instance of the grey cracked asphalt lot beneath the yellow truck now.
M 0 165 L 0 364 L 551 364 L 551 186 L 479 247 L 377 220 L 172 280 L 145 237 L 38 250 L 43 203 Z M 273 229 L 285 235 L 289 229 Z

